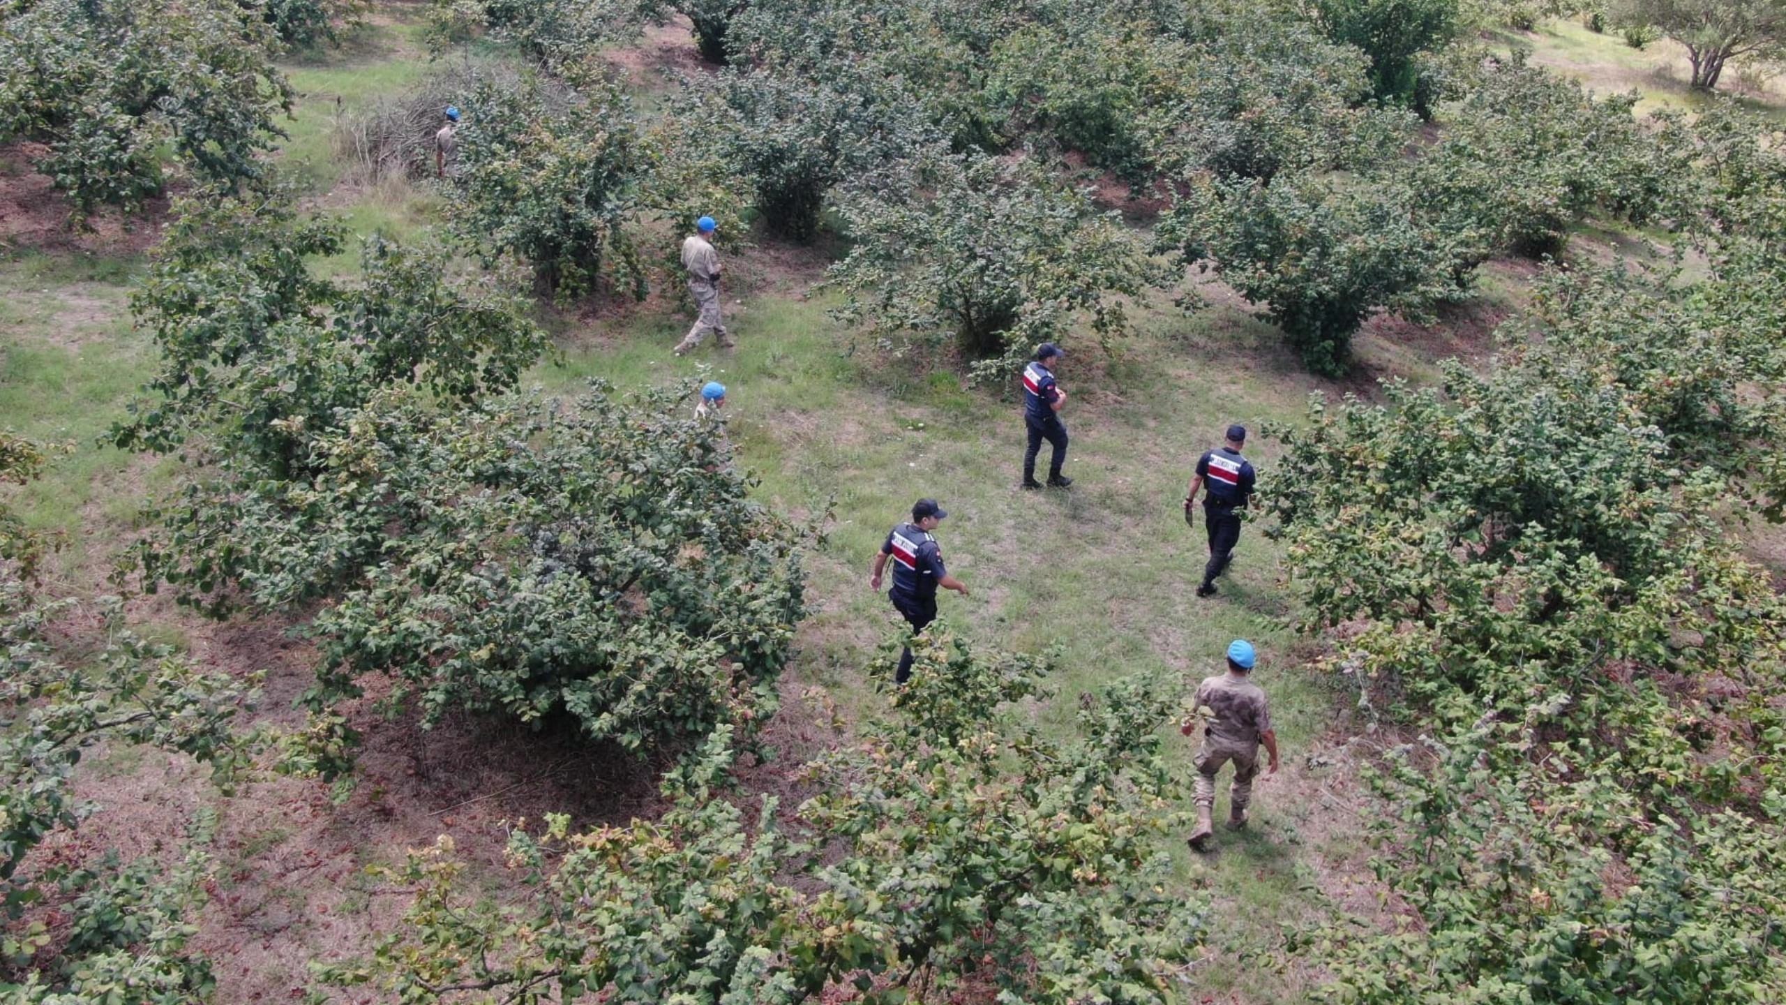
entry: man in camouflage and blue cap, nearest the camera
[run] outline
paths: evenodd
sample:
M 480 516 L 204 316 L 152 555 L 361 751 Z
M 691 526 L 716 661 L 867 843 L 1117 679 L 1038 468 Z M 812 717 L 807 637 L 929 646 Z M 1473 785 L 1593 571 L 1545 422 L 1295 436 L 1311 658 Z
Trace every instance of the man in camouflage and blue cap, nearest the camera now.
M 1179 731 L 1186 737 L 1198 722 L 1204 726 L 1204 742 L 1197 749 L 1197 830 L 1191 832 L 1191 848 L 1209 851 L 1209 839 L 1214 824 L 1209 815 L 1216 805 L 1216 773 L 1222 765 L 1234 762 L 1234 787 L 1229 789 L 1229 826 L 1247 826 L 1247 805 L 1252 803 L 1252 780 L 1259 774 L 1259 744 L 1264 744 L 1272 764 L 1266 774 L 1277 774 L 1277 733 L 1272 731 L 1272 710 L 1266 706 L 1264 692 L 1248 680 L 1254 663 L 1252 644 L 1236 638 L 1229 644 L 1229 672 L 1220 678 L 1207 678 L 1197 687 L 1197 717 L 1184 721 Z

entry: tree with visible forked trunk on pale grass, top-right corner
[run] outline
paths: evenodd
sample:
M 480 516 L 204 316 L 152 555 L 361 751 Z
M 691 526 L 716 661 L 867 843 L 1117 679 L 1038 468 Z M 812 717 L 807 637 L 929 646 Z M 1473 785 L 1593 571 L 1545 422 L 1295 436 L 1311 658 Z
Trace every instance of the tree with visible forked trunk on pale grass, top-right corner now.
M 1786 52 L 1782 0 L 1613 0 L 1615 20 L 1652 25 L 1686 46 L 1700 91 L 1718 86 L 1731 61 L 1772 59 Z

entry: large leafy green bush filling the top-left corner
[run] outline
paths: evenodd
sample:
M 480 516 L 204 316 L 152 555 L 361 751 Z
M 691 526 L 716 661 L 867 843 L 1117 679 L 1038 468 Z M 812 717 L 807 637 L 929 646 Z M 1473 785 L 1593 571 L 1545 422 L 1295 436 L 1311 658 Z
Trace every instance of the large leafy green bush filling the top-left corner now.
M 36 168 L 82 224 L 100 206 L 136 211 L 168 182 L 263 175 L 291 88 L 268 61 L 268 27 L 239 4 L 27 0 L 0 27 L 0 143 L 48 150 Z

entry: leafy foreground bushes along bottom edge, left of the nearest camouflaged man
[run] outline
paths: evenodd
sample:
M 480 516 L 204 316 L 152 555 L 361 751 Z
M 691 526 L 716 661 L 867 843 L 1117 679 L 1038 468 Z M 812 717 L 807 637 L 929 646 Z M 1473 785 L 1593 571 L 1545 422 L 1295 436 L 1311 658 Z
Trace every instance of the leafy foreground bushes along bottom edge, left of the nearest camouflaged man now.
M 723 798 L 720 730 L 666 776 L 675 803 L 655 823 L 516 830 L 527 907 L 470 903 L 443 839 L 396 873 L 418 889 L 404 926 L 325 978 L 404 1001 L 457 985 L 795 1005 L 852 982 L 854 1000 L 889 1005 L 970 976 L 1000 1001 L 1168 1001 L 1166 969 L 1200 928 L 1200 907 L 1161 892 L 1154 851 L 1177 794 L 1159 755 L 1172 688 L 1118 681 L 1048 742 L 1000 714 L 1034 680 L 998 665 L 1013 658 L 932 633 L 913 685 L 961 712 L 948 733 L 870 722 L 809 765 L 822 794 L 793 812 Z

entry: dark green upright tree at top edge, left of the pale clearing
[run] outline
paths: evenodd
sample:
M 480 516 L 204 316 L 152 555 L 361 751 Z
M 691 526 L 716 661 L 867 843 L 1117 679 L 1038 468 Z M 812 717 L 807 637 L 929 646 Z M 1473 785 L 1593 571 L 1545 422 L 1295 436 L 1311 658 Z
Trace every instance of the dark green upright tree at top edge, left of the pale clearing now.
M 1461 27 L 1457 0 L 1307 0 L 1307 9 L 1327 38 L 1370 57 L 1372 97 L 1400 106 L 1415 106 L 1422 54 Z

